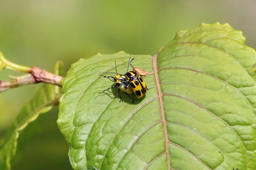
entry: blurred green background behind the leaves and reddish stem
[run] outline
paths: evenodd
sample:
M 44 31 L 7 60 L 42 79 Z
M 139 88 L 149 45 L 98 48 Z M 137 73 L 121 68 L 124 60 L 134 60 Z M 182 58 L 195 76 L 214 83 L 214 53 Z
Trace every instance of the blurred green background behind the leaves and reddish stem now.
M 97 53 L 154 55 L 177 31 L 217 21 L 242 30 L 255 49 L 255 9 L 254 0 L 0 0 L 0 50 L 14 63 L 46 70 L 64 61 L 65 74 L 78 59 Z M 22 74 L 4 70 L 0 80 L 8 75 Z M 0 137 L 39 86 L 0 94 Z M 44 127 L 24 143 L 13 169 L 31 166 L 24 158 L 35 161 L 34 169 L 71 169 L 57 112 L 44 116 Z

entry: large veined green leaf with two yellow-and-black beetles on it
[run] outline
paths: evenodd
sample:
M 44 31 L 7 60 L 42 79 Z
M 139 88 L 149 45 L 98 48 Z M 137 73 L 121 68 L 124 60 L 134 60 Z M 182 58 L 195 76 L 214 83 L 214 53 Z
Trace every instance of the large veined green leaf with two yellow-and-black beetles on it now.
M 127 69 L 129 54 L 74 63 L 62 80 L 58 126 L 74 169 L 256 169 L 256 52 L 228 24 L 180 31 L 153 57 L 142 99 L 99 76 Z M 109 75 L 110 73 L 106 74 Z M 113 74 L 112 74 L 113 75 Z

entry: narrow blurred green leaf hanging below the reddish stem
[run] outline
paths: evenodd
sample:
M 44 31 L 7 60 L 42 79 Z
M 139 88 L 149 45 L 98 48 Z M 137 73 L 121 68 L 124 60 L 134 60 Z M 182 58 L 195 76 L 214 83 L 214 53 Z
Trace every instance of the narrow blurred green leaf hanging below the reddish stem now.
M 58 74 L 61 63 L 55 66 L 55 74 Z M 12 126 L 5 133 L 0 141 L 0 169 L 9 170 L 10 161 L 16 154 L 17 139 L 20 132 L 23 131 L 32 121 L 35 121 L 42 113 L 48 112 L 54 104 L 58 102 L 59 86 L 44 84 L 35 93 L 34 97 L 22 108 Z M 36 130 L 36 129 L 35 129 Z M 28 133 L 31 133 L 28 132 Z M 26 135 L 26 134 L 23 134 Z

